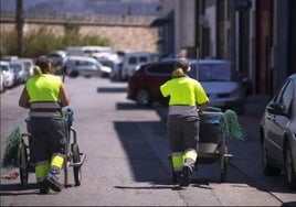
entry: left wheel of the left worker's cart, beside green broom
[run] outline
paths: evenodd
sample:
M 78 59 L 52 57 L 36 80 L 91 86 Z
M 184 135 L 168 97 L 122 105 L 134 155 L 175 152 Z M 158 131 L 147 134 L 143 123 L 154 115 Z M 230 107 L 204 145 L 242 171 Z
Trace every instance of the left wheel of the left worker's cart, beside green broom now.
M 28 161 L 28 151 L 22 140 L 19 146 L 19 162 L 20 162 L 20 179 L 21 185 L 25 186 L 28 184 L 29 178 L 29 161 Z

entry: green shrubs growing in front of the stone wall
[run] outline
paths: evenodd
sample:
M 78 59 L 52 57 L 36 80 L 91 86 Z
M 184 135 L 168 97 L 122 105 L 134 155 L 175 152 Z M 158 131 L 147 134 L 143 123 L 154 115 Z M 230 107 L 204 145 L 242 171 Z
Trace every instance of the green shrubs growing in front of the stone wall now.
M 66 46 L 84 45 L 109 46 L 110 41 L 98 35 L 81 35 L 76 25 L 66 25 L 63 36 L 57 36 L 52 30 L 42 26 L 23 36 L 23 57 L 36 57 Z M 18 54 L 17 31 L 2 32 L 0 56 Z

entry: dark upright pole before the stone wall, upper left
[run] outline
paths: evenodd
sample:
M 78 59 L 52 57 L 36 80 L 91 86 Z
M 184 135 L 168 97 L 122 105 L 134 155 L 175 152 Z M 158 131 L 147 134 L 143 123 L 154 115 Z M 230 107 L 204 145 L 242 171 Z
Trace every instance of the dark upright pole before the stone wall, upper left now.
M 23 14 L 23 4 L 22 0 L 17 0 L 17 35 L 18 35 L 18 56 L 23 56 L 23 22 L 24 22 L 24 14 Z

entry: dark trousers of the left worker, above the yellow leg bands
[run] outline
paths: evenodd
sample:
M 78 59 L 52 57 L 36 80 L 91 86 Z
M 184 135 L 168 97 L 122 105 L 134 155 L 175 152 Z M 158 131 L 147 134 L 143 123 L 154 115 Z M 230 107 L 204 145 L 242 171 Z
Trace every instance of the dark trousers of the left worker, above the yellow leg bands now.
M 31 117 L 28 123 L 31 133 L 30 150 L 35 163 L 50 161 L 52 154 L 65 155 L 65 122 L 63 119 Z

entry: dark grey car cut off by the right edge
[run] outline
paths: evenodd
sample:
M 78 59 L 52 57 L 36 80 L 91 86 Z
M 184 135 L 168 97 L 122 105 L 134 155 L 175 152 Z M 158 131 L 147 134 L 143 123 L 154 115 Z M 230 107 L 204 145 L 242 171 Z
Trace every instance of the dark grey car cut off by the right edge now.
M 262 168 L 281 175 L 296 189 L 296 74 L 290 75 L 266 106 L 260 123 Z

